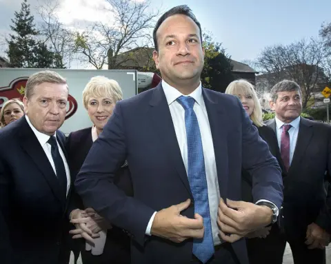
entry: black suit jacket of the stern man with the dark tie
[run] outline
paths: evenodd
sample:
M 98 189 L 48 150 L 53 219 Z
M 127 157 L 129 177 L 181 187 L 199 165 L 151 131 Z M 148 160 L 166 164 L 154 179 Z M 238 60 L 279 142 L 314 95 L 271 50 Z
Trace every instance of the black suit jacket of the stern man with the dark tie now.
M 57 140 L 66 153 L 60 131 Z M 1 241 L 12 263 L 58 264 L 68 199 L 25 116 L 0 130 L 0 145 L 0 211 L 10 236 Z

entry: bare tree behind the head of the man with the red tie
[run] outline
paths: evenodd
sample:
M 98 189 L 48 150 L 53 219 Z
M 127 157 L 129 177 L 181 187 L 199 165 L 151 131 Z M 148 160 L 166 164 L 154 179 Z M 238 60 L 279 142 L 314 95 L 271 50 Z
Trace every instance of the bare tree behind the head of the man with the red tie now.
M 302 39 L 290 45 L 267 47 L 257 59 L 262 75 L 258 76 L 268 89 L 283 79 L 296 81 L 302 90 L 303 108 L 312 97 L 313 92 L 321 90 L 326 76 L 323 72 L 323 43 L 315 39 Z

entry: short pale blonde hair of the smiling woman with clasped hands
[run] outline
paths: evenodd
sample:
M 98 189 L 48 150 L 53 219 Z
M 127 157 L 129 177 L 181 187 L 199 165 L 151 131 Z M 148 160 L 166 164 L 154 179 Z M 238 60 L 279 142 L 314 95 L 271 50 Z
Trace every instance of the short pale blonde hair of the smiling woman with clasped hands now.
M 123 99 L 123 93 L 117 81 L 103 76 L 92 77 L 83 90 L 83 105 L 88 109 L 88 101 L 91 98 L 106 97 L 116 103 Z

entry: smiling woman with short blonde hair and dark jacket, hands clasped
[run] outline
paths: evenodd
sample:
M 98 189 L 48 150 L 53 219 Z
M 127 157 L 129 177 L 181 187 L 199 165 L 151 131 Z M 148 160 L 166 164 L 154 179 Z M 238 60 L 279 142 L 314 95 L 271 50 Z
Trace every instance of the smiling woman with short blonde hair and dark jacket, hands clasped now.
M 88 116 L 93 123 L 92 128 L 85 128 L 72 132 L 67 140 L 68 164 L 72 182 L 81 169 L 81 165 L 92 147 L 93 141 L 97 140 L 103 127 L 112 116 L 112 111 L 117 101 L 123 97 L 121 88 L 117 81 L 106 77 L 97 76 L 90 79 L 83 90 L 83 105 L 88 112 Z M 132 183 L 128 164 L 123 164 L 115 176 L 115 183 L 128 195 L 132 196 Z M 83 208 L 83 203 L 77 194 L 74 195 L 77 203 Z M 91 209 L 86 210 L 90 212 Z M 92 211 L 93 214 L 93 211 Z M 85 241 L 79 243 L 79 251 L 83 264 L 128 264 L 130 263 L 130 238 L 123 230 L 110 226 L 101 216 L 97 216 L 95 230 L 99 232 L 100 237 L 94 238 L 94 245 L 89 245 Z M 92 228 L 91 228 L 92 230 Z M 93 230 L 92 230 L 93 232 Z M 74 232 L 71 232 L 75 234 Z M 80 238 L 80 235 L 74 235 L 73 238 Z M 76 252 L 77 253 L 77 252 Z M 76 254 L 77 255 L 77 254 Z

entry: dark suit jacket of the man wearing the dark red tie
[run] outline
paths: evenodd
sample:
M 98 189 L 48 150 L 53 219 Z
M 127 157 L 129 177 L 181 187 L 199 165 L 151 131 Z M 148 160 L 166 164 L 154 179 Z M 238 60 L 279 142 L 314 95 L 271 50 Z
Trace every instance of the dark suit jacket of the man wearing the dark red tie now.
M 274 119 L 267 124 L 276 132 Z M 331 126 L 301 117 L 292 163 L 283 177 L 283 223 L 291 238 L 304 236 L 313 222 L 331 234 L 331 191 L 324 185 L 330 170 Z

